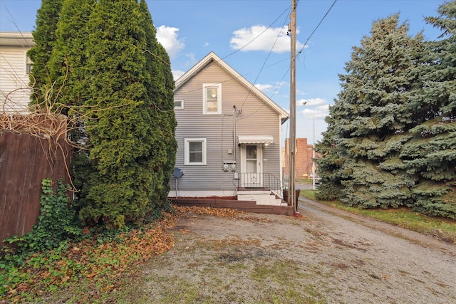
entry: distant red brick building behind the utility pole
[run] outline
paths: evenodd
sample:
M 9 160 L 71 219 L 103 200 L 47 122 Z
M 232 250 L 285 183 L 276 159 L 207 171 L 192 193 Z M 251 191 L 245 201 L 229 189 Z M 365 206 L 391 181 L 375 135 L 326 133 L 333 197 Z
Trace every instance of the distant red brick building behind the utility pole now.
M 313 145 L 307 144 L 307 138 L 296 138 L 296 156 L 294 176 L 296 179 L 311 179 L 312 174 L 312 157 Z M 282 148 L 282 174 L 284 179 L 289 177 L 289 155 L 290 155 L 290 139 L 286 138 L 285 147 Z M 320 154 L 315 153 L 315 157 L 320 157 Z

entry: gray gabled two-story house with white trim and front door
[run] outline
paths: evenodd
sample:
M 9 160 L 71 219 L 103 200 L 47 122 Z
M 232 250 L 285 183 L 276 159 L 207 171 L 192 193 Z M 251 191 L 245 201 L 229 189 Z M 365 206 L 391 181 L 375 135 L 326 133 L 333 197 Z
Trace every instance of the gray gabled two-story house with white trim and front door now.
M 183 175 L 172 177 L 170 197 L 284 204 L 281 125 L 289 115 L 279 105 L 211 52 L 176 81 L 175 114 Z

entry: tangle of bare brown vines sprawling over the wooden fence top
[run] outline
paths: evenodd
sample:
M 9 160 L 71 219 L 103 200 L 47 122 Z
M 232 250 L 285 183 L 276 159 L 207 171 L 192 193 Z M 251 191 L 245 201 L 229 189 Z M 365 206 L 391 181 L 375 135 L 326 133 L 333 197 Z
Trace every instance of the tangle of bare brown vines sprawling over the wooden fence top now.
M 100 112 L 135 103 L 132 101 L 111 107 L 100 107 L 100 102 L 96 105 L 65 105 L 60 102 L 60 98 L 68 78 L 68 71 L 67 68 L 66 75 L 58 88 L 56 88 L 56 82 L 41 88 L 43 90 L 43 103 L 24 107 L 24 105 L 14 100 L 14 93 L 16 91 L 33 92 L 36 81 L 33 81 L 31 85 L 24 85 L 9 93 L 2 92 L 1 94 L 4 96 L 4 100 L 1 101 L 0 132 L 9 131 L 48 140 L 49 151 L 46 155 L 48 155 L 47 160 L 51 168 L 57 159 L 58 153 L 61 153 L 63 159 L 68 159 L 69 156 L 66 154 L 68 149 L 63 147 L 63 145 L 71 147 L 73 150 L 90 150 L 90 145 L 88 145 L 87 141 L 73 139 L 71 137 L 71 131 L 78 130 L 84 133 L 86 122 L 90 121 L 90 125 L 93 125 L 93 121 L 95 120 L 93 117 L 97 117 Z M 62 113 L 70 114 L 64 115 Z M 77 192 L 71 178 L 68 162 L 65 161 L 64 163 L 68 180 L 72 186 L 71 191 Z

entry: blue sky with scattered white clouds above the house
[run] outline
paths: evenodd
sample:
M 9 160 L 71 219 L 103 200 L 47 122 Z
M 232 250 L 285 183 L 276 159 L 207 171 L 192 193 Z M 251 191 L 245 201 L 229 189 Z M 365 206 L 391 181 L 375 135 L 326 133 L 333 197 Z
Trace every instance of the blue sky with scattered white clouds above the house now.
M 410 34 L 423 30 L 428 40 L 440 35 L 424 17 L 437 16 L 443 0 L 338 0 L 328 12 L 333 2 L 299 0 L 296 9 L 297 51 L 307 41 L 296 61 L 296 136 L 308 138 L 309 143 L 314 134 L 320 140 L 326 130 L 328 105 L 340 91 L 338 73 L 344 73 L 351 48 L 369 35 L 373 21 L 400 13 L 400 21 L 410 23 Z M 289 110 L 286 29 L 291 0 L 149 0 L 147 4 L 175 77 L 214 51 Z M 32 31 L 40 6 L 38 0 L 0 0 L 0 31 Z M 288 127 L 288 123 L 283 126 L 284 137 Z

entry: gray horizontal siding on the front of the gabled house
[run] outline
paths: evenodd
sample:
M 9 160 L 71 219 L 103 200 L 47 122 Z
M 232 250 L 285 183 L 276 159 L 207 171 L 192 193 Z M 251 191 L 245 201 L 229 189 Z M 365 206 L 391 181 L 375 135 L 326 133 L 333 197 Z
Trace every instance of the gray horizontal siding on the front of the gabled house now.
M 202 115 L 202 83 L 222 83 L 222 114 Z M 234 159 L 233 106 L 242 113 L 236 118 L 236 135 L 271 135 L 274 144 L 263 149 L 264 173 L 280 178 L 280 115 L 257 95 L 234 79 L 222 66 L 209 63 L 175 91 L 175 100 L 184 100 L 184 109 L 176 109 L 177 157 L 175 167 L 185 175 L 179 179 L 178 194 L 199 192 L 197 196 L 235 194 L 234 172 L 223 171 L 223 164 Z M 184 139 L 207 139 L 207 165 L 184 164 Z M 237 138 L 236 138 L 237 144 Z M 235 145 L 237 172 L 242 172 L 240 147 Z M 267 159 L 267 160 L 266 160 Z M 175 179 L 170 186 L 175 191 Z M 175 193 L 175 192 L 174 192 Z M 171 194 L 172 195 L 172 194 Z M 185 194 L 183 194 L 185 195 Z

